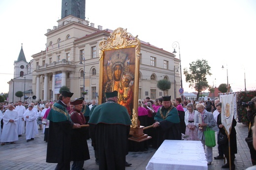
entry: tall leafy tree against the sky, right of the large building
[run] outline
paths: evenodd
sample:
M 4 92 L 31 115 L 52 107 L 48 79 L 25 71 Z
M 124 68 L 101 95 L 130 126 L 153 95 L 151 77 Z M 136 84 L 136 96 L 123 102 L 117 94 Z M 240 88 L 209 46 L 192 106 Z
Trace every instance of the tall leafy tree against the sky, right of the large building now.
M 199 93 L 206 90 L 209 85 L 206 80 L 207 75 L 212 75 L 210 73 L 211 67 L 205 59 L 197 59 L 190 63 L 189 70 L 184 68 L 184 75 L 186 76 L 186 82 L 189 83 L 189 87 L 194 87 L 197 93 L 197 100 L 199 98 Z

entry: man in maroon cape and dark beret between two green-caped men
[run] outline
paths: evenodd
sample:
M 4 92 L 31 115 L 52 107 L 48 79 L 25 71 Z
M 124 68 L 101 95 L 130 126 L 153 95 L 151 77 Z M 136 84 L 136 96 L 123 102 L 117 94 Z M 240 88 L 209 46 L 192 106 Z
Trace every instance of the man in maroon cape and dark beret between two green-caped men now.
M 74 123 L 85 125 L 85 117 L 81 112 L 83 99 L 76 99 L 70 102 L 74 107 L 69 112 L 70 118 Z M 86 140 L 86 127 L 71 130 L 71 160 L 74 161 L 71 170 L 83 170 L 84 161 L 90 159 L 88 144 Z

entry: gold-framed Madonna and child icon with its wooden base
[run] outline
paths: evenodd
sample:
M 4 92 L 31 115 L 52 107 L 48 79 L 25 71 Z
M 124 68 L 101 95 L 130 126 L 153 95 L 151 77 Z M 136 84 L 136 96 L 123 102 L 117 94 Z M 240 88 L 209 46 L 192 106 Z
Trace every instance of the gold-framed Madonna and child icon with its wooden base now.
M 115 29 L 107 39 L 99 42 L 98 104 L 106 102 L 105 92 L 118 91 L 118 103 L 127 108 L 131 117 L 131 137 L 128 139 L 135 142 L 152 138 L 143 133 L 144 126 L 140 126 L 137 113 L 140 46 L 137 36 L 133 37 L 124 28 Z

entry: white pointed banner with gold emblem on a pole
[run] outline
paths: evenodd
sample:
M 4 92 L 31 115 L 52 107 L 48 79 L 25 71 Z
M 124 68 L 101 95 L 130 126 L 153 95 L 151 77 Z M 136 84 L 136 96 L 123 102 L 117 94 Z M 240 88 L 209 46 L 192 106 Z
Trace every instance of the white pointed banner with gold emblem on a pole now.
M 229 91 L 229 90 L 228 90 Z M 221 102 L 222 102 L 222 112 L 221 112 L 221 118 L 222 118 L 222 125 L 224 126 L 225 133 L 228 138 L 228 155 L 229 155 L 229 170 L 231 170 L 231 153 L 230 153 L 230 133 L 232 128 L 232 122 L 234 115 L 234 106 L 236 106 L 236 100 L 235 99 L 236 93 L 225 93 L 224 95 L 220 95 Z M 224 160 L 225 161 L 225 160 Z

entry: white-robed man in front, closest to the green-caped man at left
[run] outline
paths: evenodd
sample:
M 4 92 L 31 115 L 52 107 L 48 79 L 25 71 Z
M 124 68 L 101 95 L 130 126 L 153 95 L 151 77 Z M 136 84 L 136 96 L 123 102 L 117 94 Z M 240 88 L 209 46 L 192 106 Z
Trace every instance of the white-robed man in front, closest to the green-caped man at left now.
M 29 110 L 23 114 L 24 120 L 26 121 L 26 139 L 27 142 L 34 140 L 35 134 L 38 134 L 36 118 L 37 114 L 33 110 L 33 106 L 29 105 Z

